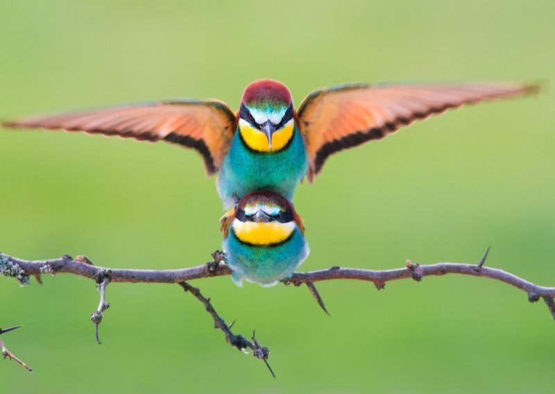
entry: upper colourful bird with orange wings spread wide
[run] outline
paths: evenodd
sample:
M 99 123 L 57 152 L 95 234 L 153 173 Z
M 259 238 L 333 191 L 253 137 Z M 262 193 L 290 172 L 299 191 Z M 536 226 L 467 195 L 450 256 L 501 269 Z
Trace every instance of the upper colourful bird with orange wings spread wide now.
M 536 92 L 519 83 L 416 85 L 350 84 L 311 92 L 293 107 L 289 89 L 257 80 L 237 112 L 218 100 L 170 100 L 32 117 L 5 127 L 65 129 L 167 141 L 196 149 L 207 173 L 218 172 L 225 207 L 253 191 L 289 200 L 298 182 L 312 181 L 329 155 L 375 139 L 450 108 Z

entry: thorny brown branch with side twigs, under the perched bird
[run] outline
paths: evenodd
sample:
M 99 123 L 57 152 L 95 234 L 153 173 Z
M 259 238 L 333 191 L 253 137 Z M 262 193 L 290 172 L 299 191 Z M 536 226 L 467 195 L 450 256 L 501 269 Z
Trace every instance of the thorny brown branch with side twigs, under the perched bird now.
M 521 277 L 502 271 L 498 268 L 484 266 L 488 250 L 486 250 L 486 253 L 484 253 L 484 256 L 480 259 L 478 264 L 436 263 L 420 265 L 407 260 L 404 268 L 394 268 L 382 271 L 332 266 L 331 268 L 320 271 L 295 273 L 288 280 L 284 280 L 284 283 L 294 284 L 295 286 L 306 284 L 312 295 L 314 295 L 314 298 L 316 298 L 318 305 L 320 305 L 327 313 L 323 300 L 316 290 L 316 286 L 314 286 L 315 282 L 337 279 L 362 280 L 366 282 L 373 282 L 376 288 L 380 290 L 384 289 L 386 282 L 407 278 L 412 278 L 413 280 L 420 282 L 422 278 L 427 276 L 441 276 L 447 274 L 487 277 L 525 291 L 530 302 L 536 302 L 540 298 L 543 298 L 545 304 L 555 319 L 555 287 L 533 284 L 522 279 Z M 96 311 L 93 312 L 91 320 L 96 324 L 97 341 L 99 341 L 98 325 L 103 317 L 102 312 L 110 307 L 110 304 L 105 301 L 105 290 L 108 283 L 129 282 L 180 284 L 185 291 L 189 291 L 198 300 L 200 300 L 200 302 L 203 302 L 206 310 L 214 319 L 214 327 L 223 331 L 225 339 L 228 343 L 230 343 L 230 345 L 240 350 L 244 350 L 246 348 L 253 350 L 255 357 L 262 359 L 272 372 L 272 375 L 274 375 L 267 361 L 270 352 L 268 348 L 259 345 L 258 341 L 255 339 L 254 332 L 252 342 L 248 341 L 248 339 L 244 336 L 233 334 L 231 331 L 232 325 L 227 325 L 225 320 L 223 320 L 223 318 L 216 313 L 214 307 L 212 307 L 212 304 L 210 303 L 210 299 L 205 298 L 204 295 L 200 293 L 199 289 L 187 283 L 189 280 L 231 274 L 230 268 L 226 264 L 220 264 L 223 262 L 222 252 L 216 251 L 212 254 L 212 257 L 214 257 L 212 262 L 191 268 L 174 270 L 136 270 L 94 266 L 89 259 L 84 256 L 78 256 L 74 259 L 69 255 L 64 255 L 58 259 L 29 261 L 0 253 L 0 274 L 15 277 L 22 286 L 29 283 L 29 277 L 31 276 L 36 277 L 37 281 L 41 283 L 40 277 L 44 273 L 51 273 L 52 275 L 57 273 L 71 273 L 95 280 L 99 284 L 100 303 Z M 6 355 L 5 346 L 3 343 L 1 343 L 1 345 L 2 352 L 5 357 L 10 357 L 19 363 L 22 363 L 15 358 L 13 354 L 8 352 L 8 355 Z M 22 365 L 25 366 L 24 363 L 22 363 Z

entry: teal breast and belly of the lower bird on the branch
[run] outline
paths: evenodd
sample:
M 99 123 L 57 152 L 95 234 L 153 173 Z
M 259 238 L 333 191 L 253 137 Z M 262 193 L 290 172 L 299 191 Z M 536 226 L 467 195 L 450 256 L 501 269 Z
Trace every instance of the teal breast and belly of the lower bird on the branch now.
M 234 282 L 243 280 L 271 286 L 291 276 L 309 254 L 308 244 L 298 228 L 293 236 L 277 246 L 252 246 L 242 243 L 230 230 L 223 241 L 225 261 Z

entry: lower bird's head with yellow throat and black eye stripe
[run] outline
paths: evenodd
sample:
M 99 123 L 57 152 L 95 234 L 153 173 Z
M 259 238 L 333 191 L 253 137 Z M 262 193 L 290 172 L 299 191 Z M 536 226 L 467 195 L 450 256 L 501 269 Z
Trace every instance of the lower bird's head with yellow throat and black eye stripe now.
M 241 198 L 234 214 L 224 223 L 229 231 L 243 243 L 270 246 L 287 241 L 298 228 L 304 234 L 302 219 L 293 205 L 274 191 L 255 191 Z

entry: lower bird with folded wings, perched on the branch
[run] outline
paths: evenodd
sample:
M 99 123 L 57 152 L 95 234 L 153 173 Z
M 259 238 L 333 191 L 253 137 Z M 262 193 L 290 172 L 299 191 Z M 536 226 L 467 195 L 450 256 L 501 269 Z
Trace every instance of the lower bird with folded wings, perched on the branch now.
M 273 286 L 309 255 L 305 227 L 293 204 L 275 191 L 247 194 L 222 223 L 223 257 L 232 280 Z

